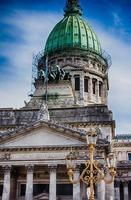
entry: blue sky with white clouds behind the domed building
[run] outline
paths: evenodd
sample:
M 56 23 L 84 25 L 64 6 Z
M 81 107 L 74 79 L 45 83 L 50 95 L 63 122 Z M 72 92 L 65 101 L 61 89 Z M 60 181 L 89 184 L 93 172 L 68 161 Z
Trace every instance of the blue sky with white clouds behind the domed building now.
M 20 108 L 31 90 L 32 57 L 62 19 L 66 0 L 0 1 L 0 107 Z M 80 0 L 83 17 L 111 55 L 109 109 L 116 134 L 131 134 L 131 1 Z

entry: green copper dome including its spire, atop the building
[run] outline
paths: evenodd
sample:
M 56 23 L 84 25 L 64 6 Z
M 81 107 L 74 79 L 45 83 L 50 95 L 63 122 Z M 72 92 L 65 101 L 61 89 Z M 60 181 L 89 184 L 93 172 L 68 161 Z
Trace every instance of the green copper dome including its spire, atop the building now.
M 45 46 L 45 54 L 66 49 L 80 49 L 101 54 L 99 40 L 82 19 L 81 9 L 76 0 L 68 0 L 64 18 L 51 31 Z

